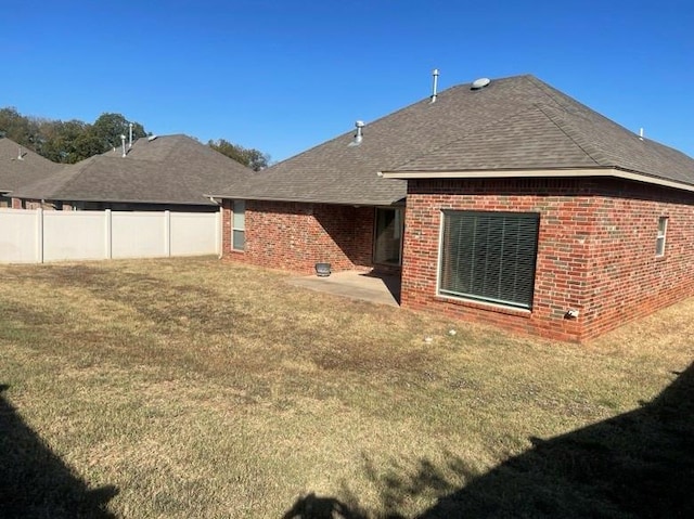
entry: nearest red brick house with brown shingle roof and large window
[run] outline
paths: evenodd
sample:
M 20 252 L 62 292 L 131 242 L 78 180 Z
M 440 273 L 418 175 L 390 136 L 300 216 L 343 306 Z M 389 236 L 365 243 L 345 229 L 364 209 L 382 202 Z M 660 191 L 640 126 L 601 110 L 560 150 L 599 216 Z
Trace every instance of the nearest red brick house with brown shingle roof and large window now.
M 406 308 L 576 341 L 694 295 L 694 159 L 532 76 L 434 101 L 228 187 L 224 256 L 401 267 Z

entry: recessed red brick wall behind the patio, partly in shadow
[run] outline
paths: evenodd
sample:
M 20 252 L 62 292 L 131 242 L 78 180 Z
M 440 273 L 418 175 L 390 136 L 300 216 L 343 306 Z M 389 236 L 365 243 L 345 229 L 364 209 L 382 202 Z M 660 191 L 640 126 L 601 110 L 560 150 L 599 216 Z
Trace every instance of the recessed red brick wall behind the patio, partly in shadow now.
M 236 261 L 313 273 L 371 265 L 372 207 L 246 200 L 244 251 L 231 248 L 231 202 L 223 202 L 223 256 Z

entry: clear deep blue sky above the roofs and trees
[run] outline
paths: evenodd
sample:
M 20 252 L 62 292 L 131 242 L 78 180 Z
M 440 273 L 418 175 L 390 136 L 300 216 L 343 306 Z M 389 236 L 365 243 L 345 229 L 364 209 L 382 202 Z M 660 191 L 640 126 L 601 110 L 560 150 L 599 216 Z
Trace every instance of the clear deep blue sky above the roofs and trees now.
M 428 96 L 433 68 L 441 89 L 534 74 L 694 156 L 691 0 L 3 3 L 0 106 L 24 115 L 280 160 Z

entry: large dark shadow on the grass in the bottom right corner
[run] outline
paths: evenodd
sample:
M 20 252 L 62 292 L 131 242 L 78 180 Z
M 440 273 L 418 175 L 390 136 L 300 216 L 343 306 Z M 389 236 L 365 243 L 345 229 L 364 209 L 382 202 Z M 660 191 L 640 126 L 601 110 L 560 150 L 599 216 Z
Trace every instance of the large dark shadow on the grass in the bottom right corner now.
M 454 456 L 444 466 L 422 459 L 414 469 L 381 471 L 367 462 L 381 496 L 373 517 L 407 517 L 407 503 L 429 496 L 433 506 L 414 517 L 694 517 L 694 364 L 677 375 L 641 408 L 532 439 L 532 449 L 483 475 Z M 298 499 L 293 509 L 301 505 Z M 340 512 L 334 517 L 371 517 Z

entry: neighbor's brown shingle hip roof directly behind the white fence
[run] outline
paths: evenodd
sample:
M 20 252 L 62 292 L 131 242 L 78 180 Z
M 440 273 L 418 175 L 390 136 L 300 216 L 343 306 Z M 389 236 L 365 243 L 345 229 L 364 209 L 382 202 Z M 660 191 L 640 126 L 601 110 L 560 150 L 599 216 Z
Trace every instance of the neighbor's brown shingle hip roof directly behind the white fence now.
M 187 135 L 142 138 L 13 193 L 72 202 L 214 205 L 208 194 L 254 171 Z

